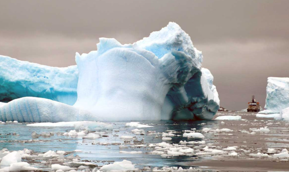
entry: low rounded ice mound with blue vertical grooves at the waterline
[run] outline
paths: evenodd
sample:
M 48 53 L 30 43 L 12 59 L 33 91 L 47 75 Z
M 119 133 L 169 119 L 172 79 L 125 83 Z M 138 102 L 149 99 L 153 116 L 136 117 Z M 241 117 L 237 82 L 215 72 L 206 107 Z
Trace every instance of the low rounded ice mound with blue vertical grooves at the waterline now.
M 0 121 L 61 122 L 103 120 L 89 112 L 46 98 L 18 98 L 0 108 Z

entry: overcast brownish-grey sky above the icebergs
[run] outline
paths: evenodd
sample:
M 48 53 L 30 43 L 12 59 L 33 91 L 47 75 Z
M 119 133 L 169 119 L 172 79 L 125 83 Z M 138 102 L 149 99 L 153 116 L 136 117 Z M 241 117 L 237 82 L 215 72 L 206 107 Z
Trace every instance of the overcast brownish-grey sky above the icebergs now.
M 0 54 L 49 66 L 75 65 L 99 37 L 133 43 L 178 23 L 203 52 L 221 106 L 264 107 L 267 77 L 289 77 L 287 0 L 0 1 Z

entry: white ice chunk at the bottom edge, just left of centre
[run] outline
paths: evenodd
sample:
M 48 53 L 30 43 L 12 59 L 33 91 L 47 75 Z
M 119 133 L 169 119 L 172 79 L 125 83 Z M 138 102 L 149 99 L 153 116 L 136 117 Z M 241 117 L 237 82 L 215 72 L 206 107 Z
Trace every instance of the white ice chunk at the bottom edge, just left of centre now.
M 131 161 L 123 160 L 121 162 L 115 162 L 113 164 L 103 165 L 99 170 L 105 171 L 126 171 L 126 170 L 136 170 L 134 164 Z

